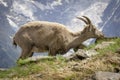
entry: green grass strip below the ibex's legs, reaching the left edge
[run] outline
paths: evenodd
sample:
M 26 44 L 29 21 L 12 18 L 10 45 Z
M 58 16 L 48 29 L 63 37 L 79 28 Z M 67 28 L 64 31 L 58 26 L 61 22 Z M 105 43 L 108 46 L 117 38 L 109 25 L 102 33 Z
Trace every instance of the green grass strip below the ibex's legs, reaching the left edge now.
M 56 65 L 57 63 L 55 62 L 60 63 L 60 64 Z M 57 68 L 60 68 L 63 65 L 65 65 L 65 58 L 58 55 L 56 59 L 46 58 L 46 59 L 38 60 L 37 62 L 31 61 L 29 59 L 25 59 L 25 60 L 19 60 L 17 64 L 18 64 L 17 66 L 9 70 L 0 71 L 0 78 L 26 77 L 28 75 L 38 73 L 40 71 L 44 71 L 45 68 L 48 68 L 48 67 L 56 71 Z

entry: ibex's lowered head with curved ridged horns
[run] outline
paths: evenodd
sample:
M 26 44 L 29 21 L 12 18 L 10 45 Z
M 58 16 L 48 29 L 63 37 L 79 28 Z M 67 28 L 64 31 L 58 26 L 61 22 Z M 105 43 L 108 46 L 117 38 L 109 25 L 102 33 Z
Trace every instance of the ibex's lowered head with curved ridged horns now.
M 95 25 L 92 24 L 91 20 L 88 17 L 82 16 L 82 17 L 77 17 L 77 18 L 86 23 L 85 28 L 81 34 L 85 34 L 85 35 L 87 34 L 86 37 L 90 37 L 90 38 L 103 38 L 104 37 L 102 32 L 99 31 L 95 27 Z

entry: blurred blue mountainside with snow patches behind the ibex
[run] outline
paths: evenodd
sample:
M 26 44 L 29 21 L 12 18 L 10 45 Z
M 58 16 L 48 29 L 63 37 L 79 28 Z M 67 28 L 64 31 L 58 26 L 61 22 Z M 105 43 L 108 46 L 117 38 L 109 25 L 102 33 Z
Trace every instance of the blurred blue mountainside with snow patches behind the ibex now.
M 83 29 L 76 19 L 83 14 L 105 36 L 120 36 L 120 0 L 0 0 L 0 68 L 16 65 L 20 48 L 12 45 L 12 38 L 23 24 L 57 22 L 76 32 Z

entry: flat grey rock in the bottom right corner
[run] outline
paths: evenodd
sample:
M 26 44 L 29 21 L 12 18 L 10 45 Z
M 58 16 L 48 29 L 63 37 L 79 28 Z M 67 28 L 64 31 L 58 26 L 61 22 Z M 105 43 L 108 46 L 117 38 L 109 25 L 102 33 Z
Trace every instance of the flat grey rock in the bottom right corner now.
M 99 71 L 95 73 L 92 80 L 120 80 L 120 74 Z

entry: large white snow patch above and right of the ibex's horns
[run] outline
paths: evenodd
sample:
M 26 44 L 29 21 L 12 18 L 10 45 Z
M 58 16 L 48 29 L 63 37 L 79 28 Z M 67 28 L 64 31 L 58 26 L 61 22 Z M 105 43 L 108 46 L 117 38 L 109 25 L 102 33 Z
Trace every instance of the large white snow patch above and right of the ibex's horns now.
M 101 17 L 107 5 L 108 3 L 96 2 L 92 4 L 90 7 L 88 7 L 86 10 L 78 12 L 77 14 L 78 16 L 83 15 L 88 16 L 91 19 L 92 23 L 97 27 L 98 24 L 102 22 Z

